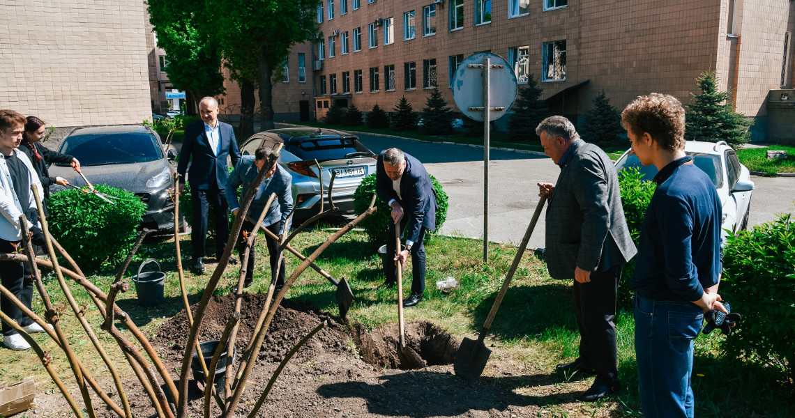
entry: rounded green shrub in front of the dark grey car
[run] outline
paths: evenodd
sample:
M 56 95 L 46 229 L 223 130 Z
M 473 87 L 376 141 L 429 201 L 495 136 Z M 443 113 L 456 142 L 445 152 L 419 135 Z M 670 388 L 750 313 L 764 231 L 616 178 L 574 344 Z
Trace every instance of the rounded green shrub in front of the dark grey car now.
M 114 195 L 115 204 L 69 189 L 53 193 L 48 202 L 49 229 L 80 268 L 95 271 L 108 261 L 124 260 L 135 241 L 146 205 L 134 194 L 99 184 L 99 192 Z

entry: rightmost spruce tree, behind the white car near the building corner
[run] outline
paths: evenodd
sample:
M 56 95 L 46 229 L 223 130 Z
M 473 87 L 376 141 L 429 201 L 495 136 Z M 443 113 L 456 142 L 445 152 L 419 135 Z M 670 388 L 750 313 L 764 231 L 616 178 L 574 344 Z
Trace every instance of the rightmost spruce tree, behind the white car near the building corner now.
M 746 143 L 748 127 L 754 122 L 735 112 L 731 91 L 718 91 L 715 72 L 702 72 L 696 81 L 701 93 L 690 93 L 692 103 L 688 104 L 684 138 L 689 141 L 726 141 L 731 146 Z

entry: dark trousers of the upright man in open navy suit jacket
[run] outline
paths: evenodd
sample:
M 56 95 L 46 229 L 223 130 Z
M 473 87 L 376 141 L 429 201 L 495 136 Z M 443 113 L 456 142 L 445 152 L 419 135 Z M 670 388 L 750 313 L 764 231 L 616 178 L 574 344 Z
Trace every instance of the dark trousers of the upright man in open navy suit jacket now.
M 229 206 L 223 188 L 211 184 L 207 190 L 191 190 L 193 220 L 191 223 L 191 242 L 193 258 L 204 257 L 204 245 L 207 241 L 207 213 L 210 203 L 215 207 L 215 255 L 223 254 L 223 247 L 229 239 Z

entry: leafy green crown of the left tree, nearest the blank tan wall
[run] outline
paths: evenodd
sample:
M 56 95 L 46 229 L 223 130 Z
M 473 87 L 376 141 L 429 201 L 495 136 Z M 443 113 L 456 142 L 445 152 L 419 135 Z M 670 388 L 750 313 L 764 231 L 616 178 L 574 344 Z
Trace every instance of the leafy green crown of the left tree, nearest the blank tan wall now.
M 205 33 L 204 2 L 149 0 L 149 22 L 157 33 L 157 46 L 165 49 L 169 82 L 191 95 L 223 93 L 221 51 L 217 38 Z

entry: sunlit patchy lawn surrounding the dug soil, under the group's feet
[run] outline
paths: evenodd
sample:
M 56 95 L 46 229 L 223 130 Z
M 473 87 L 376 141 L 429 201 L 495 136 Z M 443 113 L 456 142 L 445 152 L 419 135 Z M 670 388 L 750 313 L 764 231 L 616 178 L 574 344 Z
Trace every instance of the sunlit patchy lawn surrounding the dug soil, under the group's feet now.
M 321 228 L 303 232 L 293 240 L 292 245 L 304 255 L 309 255 L 321 242 L 332 234 L 332 230 Z M 182 254 L 190 254 L 190 239 L 182 237 Z M 345 277 L 355 294 L 354 305 L 348 313 L 351 322 L 364 323 L 378 327 L 385 323 L 397 322 L 397 294 L 395 289 L 381 289 L 379 284 L 386 279 L 382 273 L 382 261 L 375 247 L 366 242 L 363 232 L 353 231 L 340 238 L 316 261 L 321 268 L 333 277 Z M 494 302 L 502 281 L 515 254 L 515 247 L 491 245 L 491 261 L 483 264 L 483 248 L 479 240 L 450 238 L 431 235 L 427 238 L 427 259 L 425 300 L 416 308 L 405 310 L 406 321 L 428 320 L 444 327 L 455 335 L 472 337 L 483 326 L 483 321 Z M 214 244 L 208 243 L 208 248 Z M 265 292 L 270 280 L 265 240 L 259 239 L 256 247 L 257 267 L 254 285 L 248 292 Z M 169 317 L 182 309 L 179 284 L 176 277 L 176 260 L 173 242 L 149 243 L 142 246 L 140 256 L 133 262 L 130 272 L 134 274 L 140 262 L 154 257 L 161 262 L 167 272 L 165 280 L 165 301 L 157 308 L 141 308 L 135 296 L 135 284 L 130 291 L 120 295 L 118 304 L 128 312 L 142 332 L 151 339 L 157 339 L 157 328 Z M 288 272 L 293 271 L 299 261 L 287 256 Z M 196 303 L 211 274 L 212 264 L 207 265 L 208 273 L 193 276 L 185 272 L 190 302 Z M 148 268 L 147 268 L 148 269 Z M 265 269 L 265 271 L 263 271 Z M 128 274 L 129 277 L 130 274 Z M 227 268 L 215 293 L 224 295 L 231 292 L 238 277 L 238 265 Z M 411 265 L 404 274 L 404 292 L 408 295 L 411 283 Z M 444 293 L 436 290 L 436 281 L 455 277 L 460 288 Z M 107 290 L 113 280 L 113 273 L 90 278 L 100 288 Z M 86 294 L 74 284 L 70 289 L 80 304 L 87 304 Z M 63 301 L 64 297 L 55 280 L 48 278 L 46 287 L 53 303 Z M 529 402 L 541 405 L 544 416 L 639 416 L 640 404 L 637 390 L 637 372 L 634 360 L 634 321 L 630 312 L 620 312 L 616 319 L 616 334 L 619 345 L 619 377 L 622 391 L 608 400 L 593 404 L 583 404 L 573 399 L 576 394 L 588 389 L 592 377 L 560 377 L 553 375 L 555 365 L 572 361 L 577 356 L 579 335 L 572 312 L 571 283 L 554 281 L 549 278 L 542 261 L 527 252 L 522 258 L 514 281 L 498 315 L 491 327 L 492 335 L 486 340 L 493 350 L 484 378 L 493 379 L 494 384 L 504 385 Z M 288 297 L 304 301 L 317 308 L 338 315 L 335 304 L 335 288 L 323 277 L 308 269 L 290 289 Z M 41 313 L 41 300 L 34 300 L 33 308 Z M 99 314 L 89 305 L 87 319 L 95 327 L 99 339 L 114 356 L 118 369 L 126 377 L 132 371 L 126 366 L 121 351 L 104 331 L 99 330 Z M 107 377 L 105 366 L 95 355 L 91 343 L 80 330 L 76 319 L 66 316 L 65 328 L 69 341 L 76 353 L 98 378 Z M 78 331 L 80 330 L 80 331 Z M 122 331 L 129 335 L 127 331 Z M 718 333 L 700 336 L 696 340 L 696 361 L 694 366 L 693 389 L 696 396 L 696 415 L 698 416 L 793 416 L 795 405 L 789 400 L 791 393 L 775 383 L 766 370 L 756 368 L 735 360 L 721 357 L 717 342 L 723 338 Z M 53 350 L 55 345 L 46 341 L 45 335 L 35 336 L 45 346 Z M 53 351 L 55 364 L 65 381 L 73 381 L 60 351 Z M 173 371 L 176 377 L 176 371 Z M 14 382 L 33 375 L 37 381 L 49 381 L 45 370 L 32 351 L 14 352 L 0 349 L 0 381 Z M 68 377 L 68 379 L 67 379 Z M 48 386 L 45 385 L 45 388 Z M 40 389 L 43 390 L 43 389 Z

